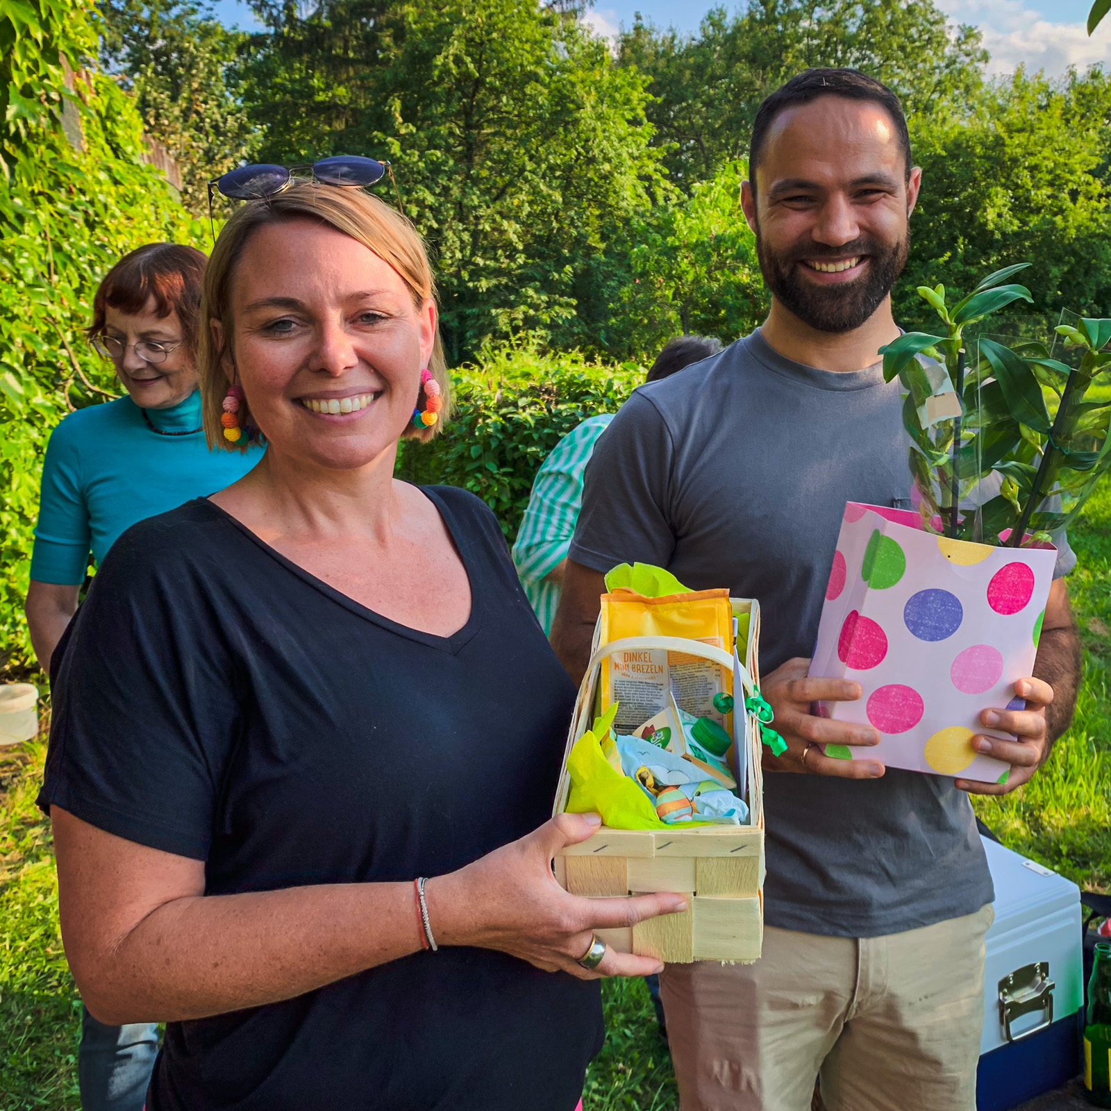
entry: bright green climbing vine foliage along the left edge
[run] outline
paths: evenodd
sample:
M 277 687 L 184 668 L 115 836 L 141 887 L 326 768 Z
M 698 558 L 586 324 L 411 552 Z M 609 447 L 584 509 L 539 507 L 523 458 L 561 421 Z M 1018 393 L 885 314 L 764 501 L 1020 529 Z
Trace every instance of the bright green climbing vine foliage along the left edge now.
M 116 394 L 82 336 L 126 251 L 203 247 L 203 229 L 142 162 L 131 99 L 88 68 L 76 0 L 0 0 L 0 669 L 32 662 L 22 617 L 42 456 L 68 411 Z

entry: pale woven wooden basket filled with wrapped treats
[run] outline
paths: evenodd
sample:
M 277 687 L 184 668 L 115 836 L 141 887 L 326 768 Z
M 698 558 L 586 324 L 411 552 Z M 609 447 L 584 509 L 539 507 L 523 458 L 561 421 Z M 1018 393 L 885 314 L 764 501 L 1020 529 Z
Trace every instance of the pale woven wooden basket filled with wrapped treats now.
M 688 591 L 622 564 L 594 630 L 568 735 L 556 813 L 602 827 L 556 858 L 574 894 L 674 891 L 682 914 L 600 930 L 668 962 L 754 961 L 763 935 L 761 738 L 778 749 L 758 687 L 760 607 Z

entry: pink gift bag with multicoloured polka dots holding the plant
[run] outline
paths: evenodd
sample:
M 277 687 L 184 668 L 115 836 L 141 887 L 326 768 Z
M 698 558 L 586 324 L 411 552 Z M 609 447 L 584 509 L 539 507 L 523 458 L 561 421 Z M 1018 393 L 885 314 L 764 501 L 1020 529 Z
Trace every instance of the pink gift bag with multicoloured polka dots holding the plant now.
M 1005 782 L 979 755 L 991 707 L 1010 707 L 1033 668 L 1057 549 L 997 548 L 934 536 L 919 513 L 849 502 L 825 590 L 810 674 L 852 679 L 855 702 L 819 712 L 869 723 L 891 768 Z M 1007 738 L 1009 734 L 997 732 Z M 827 755 L 852 759 L 843 745 Z

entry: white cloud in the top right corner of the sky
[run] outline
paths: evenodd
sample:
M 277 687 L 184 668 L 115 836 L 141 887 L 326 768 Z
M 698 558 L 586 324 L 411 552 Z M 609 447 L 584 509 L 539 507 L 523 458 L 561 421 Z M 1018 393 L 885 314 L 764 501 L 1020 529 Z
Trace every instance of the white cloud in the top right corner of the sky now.
M 1022 0 L 941 0 L 940 7 L 961 23 L 975 23 L 991 53 L 991 73 L 1010 73 L 1023 64 L 1057 77 L 1069 66 L 1083 70 L 1093 62 L 1111 64 L 1111 31 L 1101 27 L 1090 39 L 1083 23 L 1053 23 Z

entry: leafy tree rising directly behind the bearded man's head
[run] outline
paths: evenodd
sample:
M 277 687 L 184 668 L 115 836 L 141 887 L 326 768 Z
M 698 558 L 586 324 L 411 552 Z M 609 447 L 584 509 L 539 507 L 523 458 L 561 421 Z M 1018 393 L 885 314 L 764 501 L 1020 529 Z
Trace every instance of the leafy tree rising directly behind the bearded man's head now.
M 721 162 L 748 157 L 760 101 L 800 70 L 863 70 L 913 114 L 972 94 L 988 54 L 979 31 L 953 28 L 932 0 L 750 0 L 732 17 L 711 9 L 690 37 L 638 17 L 620 59 L 651 78 L 658 100 L 648 118 L 689 189 Z

